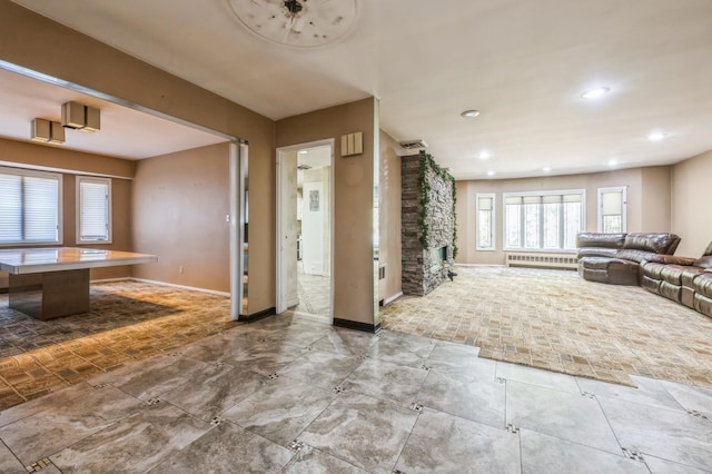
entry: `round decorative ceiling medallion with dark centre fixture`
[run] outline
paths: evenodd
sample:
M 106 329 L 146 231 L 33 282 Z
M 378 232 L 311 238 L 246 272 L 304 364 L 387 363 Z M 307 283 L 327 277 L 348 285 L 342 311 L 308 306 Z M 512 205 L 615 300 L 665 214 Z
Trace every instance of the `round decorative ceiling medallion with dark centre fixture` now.
M 227 0 L 250 31 L 279 45 L 314 48 L 342 38 L 354 24 L 357 0 Z

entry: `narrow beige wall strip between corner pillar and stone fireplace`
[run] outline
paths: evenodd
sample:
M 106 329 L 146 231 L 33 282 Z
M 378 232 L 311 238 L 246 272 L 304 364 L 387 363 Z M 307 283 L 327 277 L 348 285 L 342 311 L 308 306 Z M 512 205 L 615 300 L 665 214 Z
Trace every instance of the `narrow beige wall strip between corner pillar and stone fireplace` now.
M 388 300 L 400 294 L 400 146 L 380 131 L 380 236 L 378 260 L 386 277 L 378 283 L 378 299 Z

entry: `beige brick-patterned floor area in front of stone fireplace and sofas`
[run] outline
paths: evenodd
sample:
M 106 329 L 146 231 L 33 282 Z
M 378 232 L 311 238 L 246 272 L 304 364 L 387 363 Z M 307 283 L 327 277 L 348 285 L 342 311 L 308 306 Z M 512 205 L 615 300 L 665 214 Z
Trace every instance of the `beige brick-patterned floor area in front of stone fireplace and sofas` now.
M 629 375 L 712 387 L 712 318 L 640 287 L 575 271 L 457 267 L 424 297 L 382 308 L 386 329 L 481 347 L 479 355 L 633 385 Z

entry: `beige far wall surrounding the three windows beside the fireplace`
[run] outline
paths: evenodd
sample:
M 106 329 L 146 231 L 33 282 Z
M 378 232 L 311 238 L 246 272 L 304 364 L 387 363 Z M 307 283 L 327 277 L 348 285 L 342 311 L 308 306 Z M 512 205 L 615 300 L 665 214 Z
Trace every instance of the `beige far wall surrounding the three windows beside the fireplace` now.
M 459 264 L 504 265 L 503 248 L 503 192 L 548 191 L 565 189 L 586 190 L 586 230 L 597 229 L 599 188 L 627 186 L 627 231 L 643 231 L 642 169 L 621 169 L 606 172 L 583 175 L 551 176 L 543 178 L 497 179 L 459 181 L 457 184 L 457 241 Z M 476 250 L 475 227 L 477 192 L 494 192 L 495 209 L 495 251 Z M 666 229 L 664 229 L 666 230 Z

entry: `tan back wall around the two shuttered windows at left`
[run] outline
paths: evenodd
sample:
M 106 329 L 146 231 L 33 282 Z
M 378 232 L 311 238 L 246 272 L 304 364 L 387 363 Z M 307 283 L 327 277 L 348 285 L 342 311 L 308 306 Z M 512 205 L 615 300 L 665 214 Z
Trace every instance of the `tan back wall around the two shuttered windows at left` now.
M 82 154 L 0 138 L 0 165 L 31 169 L 39 167 L 62 174 L 62 245 L 67 247 L 132 250 L 131 180 L 111 179 L 111 244 L 77 244 L 77 176 L 134 175 L 134 162 L 101 155 Z M 95 268 L 92 279 L 120 278 L 130 275 L 130 267 Z M 8 287 L 8 276 L 0 273 L 0 288 Z

